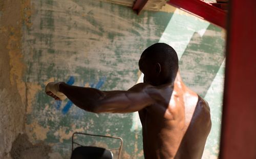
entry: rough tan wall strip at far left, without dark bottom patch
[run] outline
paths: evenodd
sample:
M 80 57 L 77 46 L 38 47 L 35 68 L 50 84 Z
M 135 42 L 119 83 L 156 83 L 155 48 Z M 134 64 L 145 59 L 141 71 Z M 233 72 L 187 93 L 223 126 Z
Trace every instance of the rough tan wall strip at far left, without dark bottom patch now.
M 18 133 L 24 132 L 26 66 L 21 38 L 21 3 L 0 1 L 0 158 L 11 150 Z

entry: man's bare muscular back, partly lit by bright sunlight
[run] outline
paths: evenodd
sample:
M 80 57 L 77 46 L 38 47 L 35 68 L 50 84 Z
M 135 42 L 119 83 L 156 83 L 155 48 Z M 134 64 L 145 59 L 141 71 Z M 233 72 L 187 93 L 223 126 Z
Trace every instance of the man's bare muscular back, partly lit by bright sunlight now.
M 174 85 L 151 88 L 158 102 L 139 110 L 145 158 L 202 157 L 211 128 L 209 106 L 178 76 Z

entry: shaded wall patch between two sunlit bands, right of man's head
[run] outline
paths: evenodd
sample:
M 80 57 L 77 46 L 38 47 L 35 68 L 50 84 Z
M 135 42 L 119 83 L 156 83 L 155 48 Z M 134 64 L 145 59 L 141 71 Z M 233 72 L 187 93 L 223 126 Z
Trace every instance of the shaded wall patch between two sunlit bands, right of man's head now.
M 224 44 L 221 29 L 209 25 L 203 35 L 194 33 L 180 58 L 183 81 L 203 98 L 225 59 L 221 44 Z

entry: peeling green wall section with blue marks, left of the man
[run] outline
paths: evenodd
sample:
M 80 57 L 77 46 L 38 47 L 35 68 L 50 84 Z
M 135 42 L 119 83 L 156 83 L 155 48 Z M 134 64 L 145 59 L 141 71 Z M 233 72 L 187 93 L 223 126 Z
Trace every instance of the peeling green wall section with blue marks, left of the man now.
M 30 140 L 45 141 L 69 156 L 73 132 L 111 134 L 124 139 L 123 157 L 142 156 L 140 131 L 131 130 L 132 113 L 95 115 L 69 100 L 55 102 L 43 90 L 53 80 L 103 90 L 130 88 L 138 79 L 140 53 L 158 42 L 172 14 L 137 16 L 130 8 L 99 1 L 31 4 L 32 26 L 23 36 Z

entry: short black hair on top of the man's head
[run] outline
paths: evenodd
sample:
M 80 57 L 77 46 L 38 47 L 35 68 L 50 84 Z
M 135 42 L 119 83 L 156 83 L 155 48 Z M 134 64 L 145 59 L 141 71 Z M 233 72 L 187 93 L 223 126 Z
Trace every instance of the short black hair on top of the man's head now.
M 141 58 L 150 60 L 152 63 L 158 62 L 169 73 L 175 77 L 179 69 L 179 59 L 176 51 L 166 43 L 155 43 L 148 47 L 141 54 Z

